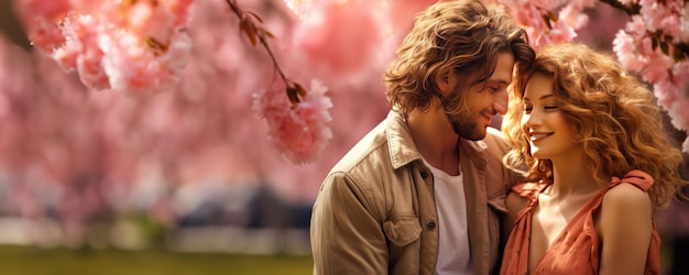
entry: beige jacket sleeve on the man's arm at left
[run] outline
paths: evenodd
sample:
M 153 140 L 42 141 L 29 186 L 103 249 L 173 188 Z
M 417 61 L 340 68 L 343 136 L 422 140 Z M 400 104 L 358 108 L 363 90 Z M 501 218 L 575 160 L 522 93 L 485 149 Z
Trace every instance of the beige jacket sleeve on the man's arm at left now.
M 387 244 L 379 212 L 344 173 L 325 179 L 310 223 L 314 274 L 386 274 Z

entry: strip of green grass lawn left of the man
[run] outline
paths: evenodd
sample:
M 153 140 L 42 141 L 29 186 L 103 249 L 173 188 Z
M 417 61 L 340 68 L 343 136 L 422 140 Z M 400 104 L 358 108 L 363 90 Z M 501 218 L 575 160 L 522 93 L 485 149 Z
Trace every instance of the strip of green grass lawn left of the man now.
M 0 245 L 2 275 L 304 275 L 311 264 L 310 256 Z

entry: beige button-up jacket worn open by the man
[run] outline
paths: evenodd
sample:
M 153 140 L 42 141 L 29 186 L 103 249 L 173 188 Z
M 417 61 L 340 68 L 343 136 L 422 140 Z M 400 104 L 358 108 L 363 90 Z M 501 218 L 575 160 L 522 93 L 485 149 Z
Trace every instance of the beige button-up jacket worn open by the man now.
M 507 148 L 494 129 L 483 141 L 460 143 L 477 274 L 500 270 L 500 219 L 505 194 L 518 179 L 501 163 Z M 438 253 L 433 188 L 404 118 L 391 111 L 322 183 L 310 224 L 314 274 L 433 274 Z

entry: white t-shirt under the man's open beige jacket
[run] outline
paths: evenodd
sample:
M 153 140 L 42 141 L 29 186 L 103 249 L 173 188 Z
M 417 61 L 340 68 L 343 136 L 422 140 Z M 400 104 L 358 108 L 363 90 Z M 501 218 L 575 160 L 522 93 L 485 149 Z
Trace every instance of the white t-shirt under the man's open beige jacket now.
M 469 246 L 469 229 L 467 227 L 467 199 L 461 176 L 450 176 L 444 170 L 424 163 L 434 178 L 436 208 L 438 209 L 438 260 L 437 275 L 475 274 Z

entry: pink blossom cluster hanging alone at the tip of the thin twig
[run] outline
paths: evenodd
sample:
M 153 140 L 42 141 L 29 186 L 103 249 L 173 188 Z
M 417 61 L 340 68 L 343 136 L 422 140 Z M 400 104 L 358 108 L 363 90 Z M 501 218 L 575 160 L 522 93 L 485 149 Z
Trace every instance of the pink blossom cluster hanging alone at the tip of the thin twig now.
M 332 107 L 328 90 L 319 80 L 311 80 L 309 91 L 295 105 L 286 96 L 286 85 L 275 77 L 269 89 L 254 94 L 253 110 L 267 121 L 270 139 L 283 155 L 295 164 L 314 162 L 332 138 L 326 125 Z

